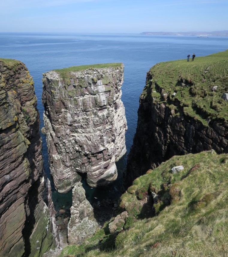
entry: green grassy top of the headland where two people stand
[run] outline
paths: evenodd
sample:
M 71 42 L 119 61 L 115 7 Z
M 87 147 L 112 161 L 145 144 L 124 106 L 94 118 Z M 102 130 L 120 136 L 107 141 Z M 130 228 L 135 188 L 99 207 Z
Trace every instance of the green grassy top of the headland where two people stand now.
M 215 91 L 213 87 L 217 86 Z M 141 99 L 152 97 L 155 104 L 164 103 L 176 115 L 228 122 L 228 104 L 222 96 L 228 93 L 228 50 L 194 61 L 158 63 L 147 74 Z

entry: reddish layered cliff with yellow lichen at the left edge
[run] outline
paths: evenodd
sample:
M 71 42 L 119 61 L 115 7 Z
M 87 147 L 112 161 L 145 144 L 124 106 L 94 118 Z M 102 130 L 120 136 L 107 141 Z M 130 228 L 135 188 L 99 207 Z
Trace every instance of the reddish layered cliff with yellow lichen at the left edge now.
M 0 256 L 42 256 L 58 245 L 58 231 L 34 82 L 23 63 L 0 59 L 0 101 Z

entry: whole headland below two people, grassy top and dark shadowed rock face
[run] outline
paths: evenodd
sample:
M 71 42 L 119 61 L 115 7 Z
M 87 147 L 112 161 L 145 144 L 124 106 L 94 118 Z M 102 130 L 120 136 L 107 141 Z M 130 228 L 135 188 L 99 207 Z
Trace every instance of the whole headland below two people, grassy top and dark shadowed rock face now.
M 140 97 L 127 184 L 174 155 L 228 152 L 228 51 L 156 64 Z

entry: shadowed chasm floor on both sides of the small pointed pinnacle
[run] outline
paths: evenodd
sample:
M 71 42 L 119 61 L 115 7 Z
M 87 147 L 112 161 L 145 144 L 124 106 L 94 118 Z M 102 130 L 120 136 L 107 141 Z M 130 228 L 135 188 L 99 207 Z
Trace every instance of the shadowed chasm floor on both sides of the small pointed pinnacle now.
M 127 156 L 124 155 L 123 158 L 116 162 L 117 180 L 110 182 L 107 186 L 90 187 L 86 182 L 86 173 L 79 173 L 86 199 L 93 207 L 94 218 L 99 226 L 103 226 L 106 221 L 115 216 L 115 211 L 120 203 L 120 196 L 123 193 L 123 175 L 126 168 L 126 160 Z M 46 174 L 52 185 L 52 201 L 55 206 L 55 217 L 61 246 L 65 246 L 68 244 L 67 226 L 71 218 L 70 208 L 73 204 L 72 190 L 67 193 L 59 193 L 54 187 L 49 169 L 46 170 Z

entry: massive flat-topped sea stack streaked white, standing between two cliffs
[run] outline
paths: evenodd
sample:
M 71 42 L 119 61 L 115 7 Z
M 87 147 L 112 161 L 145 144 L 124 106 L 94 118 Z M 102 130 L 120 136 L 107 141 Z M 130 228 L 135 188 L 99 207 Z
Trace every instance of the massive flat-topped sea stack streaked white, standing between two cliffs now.
M 96 187 L 117 177 L 126 153 L 123 64 L 70 67 L 43 74 L 44 124 L 55 187 L 69 191 L 87 173 Z

